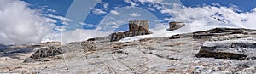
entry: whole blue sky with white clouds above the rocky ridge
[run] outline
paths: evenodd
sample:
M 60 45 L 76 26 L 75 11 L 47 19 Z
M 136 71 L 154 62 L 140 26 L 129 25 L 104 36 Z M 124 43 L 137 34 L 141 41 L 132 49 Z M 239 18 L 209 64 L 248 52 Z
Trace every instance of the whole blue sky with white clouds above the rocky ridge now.
M 255 0 L 0 0 L 0 43 L 63 43 L 127 31 L 149 20 L 151 31 L 181 21 L 189 31 L 256 28 Z M 216 20 L 216 18 L 221 21 Z M 163 31 L 165 32 L 165 31 Z

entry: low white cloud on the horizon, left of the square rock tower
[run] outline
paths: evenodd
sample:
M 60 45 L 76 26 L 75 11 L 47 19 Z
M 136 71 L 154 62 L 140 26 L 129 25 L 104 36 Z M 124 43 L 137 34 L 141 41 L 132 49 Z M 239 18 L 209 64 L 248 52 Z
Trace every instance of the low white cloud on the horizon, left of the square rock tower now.
M 76 29 L 74 31 L 53 31 L 51 34 L 43 38 L 43 42 L 59 41 L 61 43 L 71 43 L 85 41 L 92 37 L 106 36 L 106 32 L 93 30 Z

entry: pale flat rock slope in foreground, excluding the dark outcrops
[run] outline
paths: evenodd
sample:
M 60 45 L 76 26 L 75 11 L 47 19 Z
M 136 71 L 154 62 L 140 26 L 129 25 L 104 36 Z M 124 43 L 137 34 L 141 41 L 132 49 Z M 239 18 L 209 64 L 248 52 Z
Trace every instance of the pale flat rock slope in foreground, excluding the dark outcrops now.
M 214 30 L 213 30 L 214 31 Z M 230 30 L 231 31 L 231 30 Z M 237 31 L 237 30 L 234 30 Z M 253 32 L 245 30 L 246 32 Z M 216 59 L 214 57 L 196 57 L 201 51 L 202 45 L 211 42 L 231 42 L 237 40 L 248 40 L 248 44 L 253 44 L 253 40 L 241 34 L 239 37 L 222 35 L 207 36 L 205 32 L 200 32 L 201 36 L 186 37 L 157 37 L 141 39 L 134 42 L 77 42 L 61 46 L 66 53 L 45 57 L 45 61 L 22 63 L 15 58 L 9 58 L 0 63 L 0 73 L 46 73 L 46 74 L 253 74 L 256 73 L 256 60 L 253 52 L 242 53 L 229 51 L 229 53 L 244 54 L 247 57 L 243 60 Z M 199 33 L 197 33 L 199 34 Z M 202 35 L 207 34 L 207 35 Z M 230 34 L 229 34 L 230 35 Z M 231 34 L 236 35 L 236 34 Z M 181 35 L 179 35 L 181 36 Z M 196 37 L 196 38 L 195 38 Z M 198 38 L 209 37 L 209 38 Z M 214 39 L 212 37 L 215 37 Z M 250 35 L 249 37 L 253 37 Z M 242 40 L 246 39 L 246 40 Z M 215 43 L 210 44 L 214 46 Z M 224 46 L 229 46 L 230 43 Z M 209 46 L 210 46 L 209 45 Z M 216 43 L 218 46 L 218 44 Z M 228 48 L 228 47 L 227 47 Z M 247 48 L 247 50 L 253 48 Z M 228 50 L 219 49 L 224 52 Z M 35 52 L 35 50 L 34 50 Z M 31 55 L 18 56 L 23 60 Z M 6 57 L 0 57 L 1 60 Z M 17 62 L 8 62 L 17 60 Z M 6 65 L 9 64 L 9 65 Z

